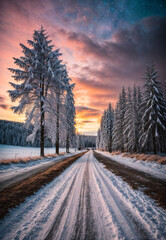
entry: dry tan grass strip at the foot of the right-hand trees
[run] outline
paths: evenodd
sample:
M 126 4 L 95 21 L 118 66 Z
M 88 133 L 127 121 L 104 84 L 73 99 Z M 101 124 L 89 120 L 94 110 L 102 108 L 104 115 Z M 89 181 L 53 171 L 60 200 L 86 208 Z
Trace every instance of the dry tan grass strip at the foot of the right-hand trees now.
M 123 153 L 122 157 L 136 158 L 137 160 L 157 162 L 157 163 L 166 165 L 166 157 L 162 157 L 159 155 L 151 155 L 151 154 L 144 154 L 144 153 Z

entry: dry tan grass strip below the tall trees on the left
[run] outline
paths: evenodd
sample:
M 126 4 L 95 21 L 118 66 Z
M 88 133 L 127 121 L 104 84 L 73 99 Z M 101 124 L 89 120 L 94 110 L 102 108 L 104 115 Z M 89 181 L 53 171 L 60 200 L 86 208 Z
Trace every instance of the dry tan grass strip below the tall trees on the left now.
M 60 153 L 59 155 L 65 155 L 65 153 Z M 57 154 L 47 154 L 45 155 L 45 158 L 52 158 L 52 157 L 57 157 L 59 156 Z M 4 159 L 4 160 L 0 160 L 0 165 L 7 165 L 10 163 L 27 163 L 29 161 L 36 161 L 36 160 L 40 160 L 43 159 L 44 157 L 26 157 L 26 158 L 16 158 L 16 159 Z

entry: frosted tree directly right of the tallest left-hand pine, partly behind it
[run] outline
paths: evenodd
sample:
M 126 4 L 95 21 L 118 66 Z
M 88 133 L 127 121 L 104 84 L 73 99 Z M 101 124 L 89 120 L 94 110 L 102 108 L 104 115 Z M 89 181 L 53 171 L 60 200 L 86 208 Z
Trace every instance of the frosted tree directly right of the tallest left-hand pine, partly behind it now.
M 53 70 L 53 81 L 52 88 L 50 90 L 49 103 L 50 111 L 47 114 L 47 129 L 49 135 L 52 139 L 53 144 L 55 144 L 56 154 L 59 154 L 60 142 L 64 145 L 62 138 L 66 139 L 66 96 L 68 89 L 70 88 L 69 81 L 71 80 L 68 77 L 66 66 L 61 64 L 61 61 L 52 64 Z M 70 94 L 72 94 L 70 88 Z M 73 98 L 74 103 L 74 98 Z M 74 116 L 75 117 L 75 116 Z

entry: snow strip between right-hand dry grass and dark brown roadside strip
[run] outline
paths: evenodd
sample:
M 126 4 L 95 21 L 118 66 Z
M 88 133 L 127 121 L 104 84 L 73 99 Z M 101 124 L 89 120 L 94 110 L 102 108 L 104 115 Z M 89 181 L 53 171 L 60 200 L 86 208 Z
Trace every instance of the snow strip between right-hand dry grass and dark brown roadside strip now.
M 152 175 L 153 177 L 166 180 L 166 165 L 162 165 L 155 162 L 146 162 L 137 160 L 136 158 L 122 157 L 122 155 L 112 155 L 109 152 L 96 151 L 106 157 L 111 158 L 121 164 L 127 165 L 131 168 L 137 169 Z

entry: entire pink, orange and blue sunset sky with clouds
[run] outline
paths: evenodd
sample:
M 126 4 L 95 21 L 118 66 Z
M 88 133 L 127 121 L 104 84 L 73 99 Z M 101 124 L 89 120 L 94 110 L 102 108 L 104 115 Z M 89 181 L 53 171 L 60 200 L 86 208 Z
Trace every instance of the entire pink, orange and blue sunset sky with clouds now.
M 41 25 L 76 83 L 80 133 L 96 134 L 108 103 L 115 107 L 122 86 L 142 86 L 148 64 L 166 79 L 165 0 L 1 0 L 0 11 L 0 119 L 25 120 L 10 110 L 7 68 Z

